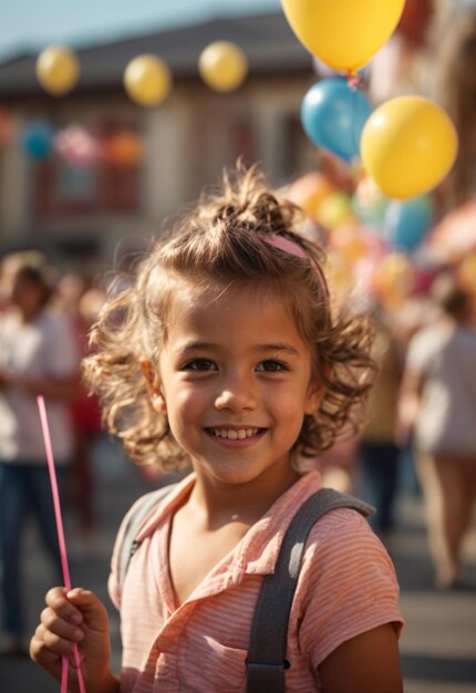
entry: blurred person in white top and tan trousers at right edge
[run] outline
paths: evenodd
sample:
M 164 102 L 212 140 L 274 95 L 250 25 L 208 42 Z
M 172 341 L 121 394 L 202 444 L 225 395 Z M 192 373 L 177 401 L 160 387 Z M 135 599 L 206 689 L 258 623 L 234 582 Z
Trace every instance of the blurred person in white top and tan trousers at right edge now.
M 457 585 L 476 501 L 475 297 L 453 275 L 432 289 L 441 317 L 412 338 L 400 401 L 424 495 L 435 585 Z

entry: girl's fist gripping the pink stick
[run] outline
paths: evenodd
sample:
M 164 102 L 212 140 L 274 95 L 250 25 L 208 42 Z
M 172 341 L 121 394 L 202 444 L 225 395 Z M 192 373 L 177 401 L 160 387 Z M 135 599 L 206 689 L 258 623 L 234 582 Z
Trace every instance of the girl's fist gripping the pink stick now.
M 54 587 L 30 643 L 31 659 L 61 681 L 62 656 L 70 658 L 69 691 L 79 693 L 73 658 L 77 644 L 87 693 L 116 693 L 118 682 L 110 669 L 108 619 L 104 604 L 87 590 Z

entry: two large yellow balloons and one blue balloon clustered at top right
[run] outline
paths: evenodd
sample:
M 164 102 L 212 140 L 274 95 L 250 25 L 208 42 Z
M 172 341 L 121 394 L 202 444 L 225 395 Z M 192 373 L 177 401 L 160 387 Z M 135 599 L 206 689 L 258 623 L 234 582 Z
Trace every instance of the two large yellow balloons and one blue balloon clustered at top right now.
M 405 0 L 281 0 L 284 14 L 314 60 L 343 77 L 314 84 L 301 121 L 309 138 L 344 162 L 361 158 L 386 196 L 424 195 L 445 177 L 457 153 L 455 127 L 438 105 L 399 96 L 377 108 L 359 89 L 358 70 L 395 30 Z

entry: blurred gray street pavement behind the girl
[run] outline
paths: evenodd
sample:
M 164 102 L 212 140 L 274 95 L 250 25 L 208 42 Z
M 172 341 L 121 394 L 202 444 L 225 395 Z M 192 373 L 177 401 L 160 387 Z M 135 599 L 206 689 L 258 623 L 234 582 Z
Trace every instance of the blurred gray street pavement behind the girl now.
M 118 523 L 132 501 L 153 486 L 103 442 L 95 452 L 97 531 L 89 546 L 76 536 L 75 519 L 66 511 L 66 545 L 73 585 L 96 591 L 110 608 L 113 668 L 120 668 L 117 613 L 106 580 Z M 476 518 L 475 518 L 476 519 Z M 466 544 L 465 587 L 433 588 L 422 504 L 405 490 L 399 503 L 397 530 L 387 540 L 402 589 L 405 629 L 401 639 L 405 693 L 476 693 L 476 523 Z M 32 527 L 25 540 L 25 599 L 32 632 L 51 586 L 51 568 Z M 59 693 L 60 684 L 28 659 L 0 659 L 1 693 Z M 211 692 L 210 692 L 211 693 Z M 385 693 L 385 691 L 382 691 Z

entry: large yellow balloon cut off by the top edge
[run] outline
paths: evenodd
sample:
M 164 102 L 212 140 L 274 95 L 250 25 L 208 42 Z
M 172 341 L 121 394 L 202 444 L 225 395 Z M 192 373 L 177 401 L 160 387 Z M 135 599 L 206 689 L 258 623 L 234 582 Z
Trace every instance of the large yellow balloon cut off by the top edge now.
M 338 71 L 364 65 L 390 39 L 405 0 L 281 0 L 301 43 Z

